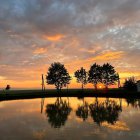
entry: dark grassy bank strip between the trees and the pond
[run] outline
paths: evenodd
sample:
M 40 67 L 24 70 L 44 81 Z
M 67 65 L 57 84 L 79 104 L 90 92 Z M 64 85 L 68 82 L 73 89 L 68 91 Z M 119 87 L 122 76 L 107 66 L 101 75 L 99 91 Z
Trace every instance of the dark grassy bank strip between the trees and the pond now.
M 126 91 L 123 89 L 98 90 L 93 89 L 63 89 L 61 93 L 50 89 L 41 90 L 10 90 L 0 91 L 0 100 L 32 99 L 44 97 L 108 97 L 108 98 L 140 98 L 140 92 Z

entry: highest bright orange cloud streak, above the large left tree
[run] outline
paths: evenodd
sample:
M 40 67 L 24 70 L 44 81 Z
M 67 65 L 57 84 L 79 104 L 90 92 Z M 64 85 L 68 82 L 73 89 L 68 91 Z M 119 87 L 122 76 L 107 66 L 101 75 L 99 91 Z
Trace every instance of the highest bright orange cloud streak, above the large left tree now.
M 53 36 L 47 36 L 47 35 L 43 35 L 43 39 L 47 39 L 49 41 L 60 41 L 62 38 L 64 37 L 64 35 L 62 34 L 57 34 L 57 35 L 53 35 Z

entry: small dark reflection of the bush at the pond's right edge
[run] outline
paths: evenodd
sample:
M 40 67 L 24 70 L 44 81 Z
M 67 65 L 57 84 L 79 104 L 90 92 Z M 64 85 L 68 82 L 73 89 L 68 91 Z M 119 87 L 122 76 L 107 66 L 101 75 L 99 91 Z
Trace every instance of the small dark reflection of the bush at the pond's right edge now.
M 126 102 L 129 105 L 131 105 L 134 108 L 139 109 L 140 108 L 140 99 L 136 99 L 136 98 L 128 98 L 126 99 Z

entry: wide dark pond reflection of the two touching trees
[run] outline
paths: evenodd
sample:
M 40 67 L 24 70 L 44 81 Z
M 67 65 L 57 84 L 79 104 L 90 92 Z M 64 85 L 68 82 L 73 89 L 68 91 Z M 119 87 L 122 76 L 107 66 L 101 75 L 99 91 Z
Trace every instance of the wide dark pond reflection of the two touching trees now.
M 91 117 L 98 125 L 101 125 L 103 122 L 115 124 L 119 113 L 122 111 L 122 107 L 121 104 L 118 105 L 115 101 L 109 99 L 99 103 L 96 98 L 95 103 L 89 105 L 89 110 Z

